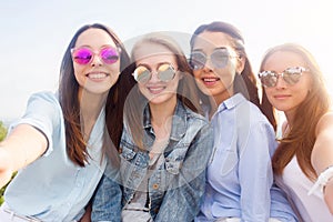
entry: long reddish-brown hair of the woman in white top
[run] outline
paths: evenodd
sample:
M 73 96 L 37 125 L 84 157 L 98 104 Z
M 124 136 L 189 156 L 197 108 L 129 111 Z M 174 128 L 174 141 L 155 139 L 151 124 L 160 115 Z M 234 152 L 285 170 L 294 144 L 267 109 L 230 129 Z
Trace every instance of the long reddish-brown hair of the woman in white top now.
M 296 155 L 300 168 L 303 173 L 311 179 L 316 179 L 316 172 L 311 164 L 311 153 L 315 142 L 315 128 L 319 120 L 330 109 L 330 94 L 326 91 L 323 74 L 314 57 L 302 46 L 295 43 L 285 43 L 276 46 L 265 53 L 260 65 L 263 71 L 265 62 L 275 52 L 293 52 L 302 58 L 312 77 L 311 90 L 305 100 L 296 108 L 293 125 L 287 135 L 280 140 L 273 159 L 272 165 L 275 174 L 281 175 L 283 169 Z M 270 119 L 273 125 L 276 125 L 274 108 L 268 100 L 263 88 L 262 111 Z

